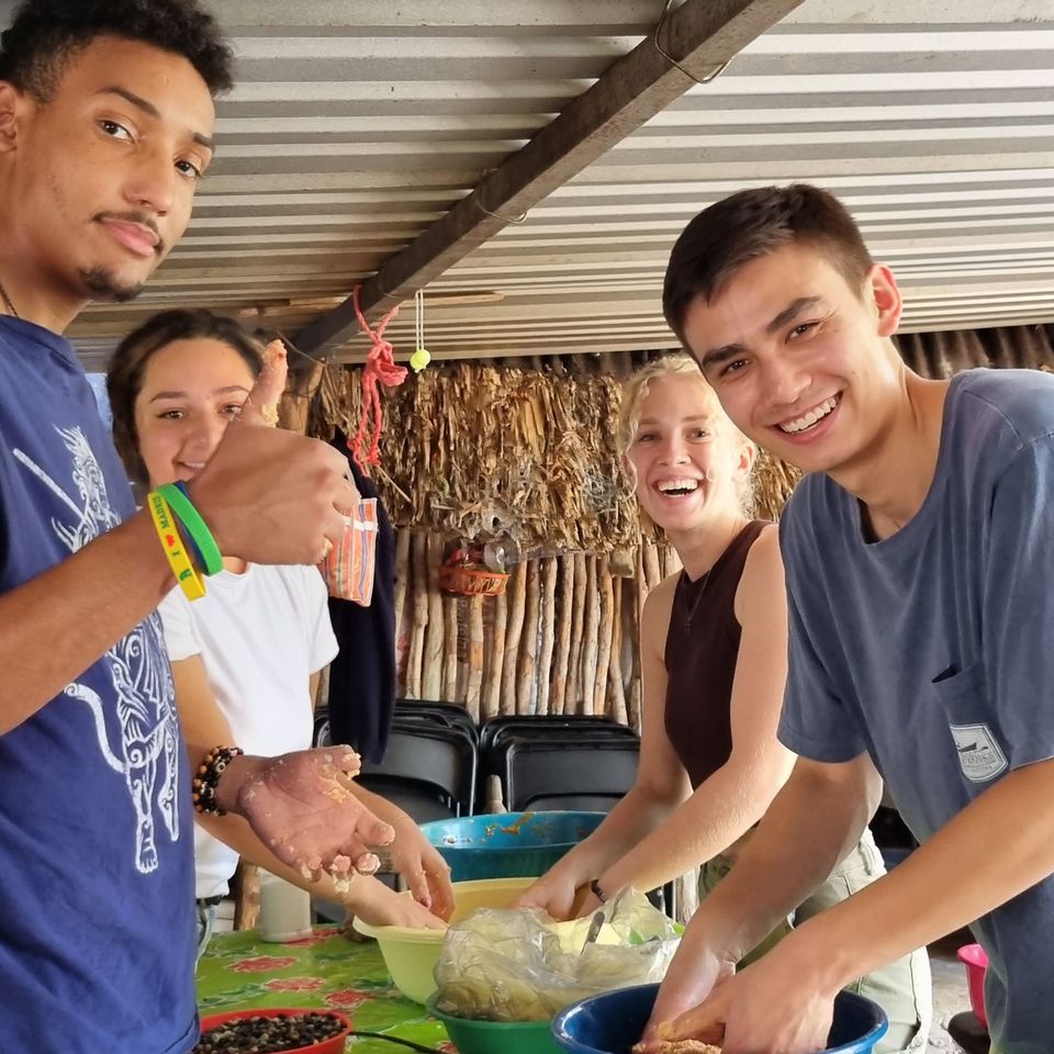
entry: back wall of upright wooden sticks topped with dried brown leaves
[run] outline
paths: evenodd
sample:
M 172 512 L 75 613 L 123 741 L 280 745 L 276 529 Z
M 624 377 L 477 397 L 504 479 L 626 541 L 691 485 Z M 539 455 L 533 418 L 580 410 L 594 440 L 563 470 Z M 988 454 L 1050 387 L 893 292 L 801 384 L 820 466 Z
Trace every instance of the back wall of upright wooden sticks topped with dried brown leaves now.
M 642 361 L 455 363 L 385 393 L 377 483 L 400 530 L 401 696 L 461 703 L 482 719 L 609 714 L 639 728 L 643 602 L 680 567 L 641 524 L 615 452 L 618 378 Z M 311 391 L 309 430 L 354 431 L 359 370 L 302 379 L 290 416 Z M 762 455 L 759 515 L 777 515 L 796 480 Z M 561 554 L 514 564 L 500 597 L 448 596 L 438 567 L 455 538 Z

